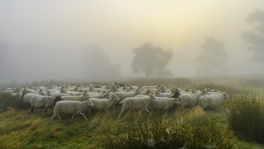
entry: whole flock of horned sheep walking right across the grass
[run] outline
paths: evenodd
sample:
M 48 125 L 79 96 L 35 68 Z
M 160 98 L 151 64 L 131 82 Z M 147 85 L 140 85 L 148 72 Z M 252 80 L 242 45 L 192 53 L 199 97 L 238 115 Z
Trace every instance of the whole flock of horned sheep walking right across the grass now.
M 229 98 L 226 92 L 217 89 L 210 90 L 190 90 L 183 88 L 171 89 L 168 85 L 162 86 L 131 86 L 118 84 L 114 82 L 111 85 L 103 86 L 92 84 L 83 86 L 67 85 L 40 85 L 40 87 L 24 87 L 23 89 L 8 88 L 0 95 L 10 95 L 13 100 L 20 100 L 23 96 L 23 102 L 31 104 L 31 111 L 34 114 L 34 108 L 44 109 L 51 108 L 54 115 L 61 120 L 59 113 L 81 114 L 86 118 L 86 111 L 91 116 L 91 110 L 105 110 L 106 114 L 112 107 L 121 105 L 121 114 L 127 109 L 141 110 L 158 110 L 163 109 L 166 113 L 171 107 L 177 104 L 180 109 L 185 106 L 201 105 L 203 108 L 219 107 L 226 98 Z M 55 107 L 54 107 L 55 105 Z M 177 107 L 177 106 L 176 106 Z M 46 113 L 45 111 L 45 113 Z

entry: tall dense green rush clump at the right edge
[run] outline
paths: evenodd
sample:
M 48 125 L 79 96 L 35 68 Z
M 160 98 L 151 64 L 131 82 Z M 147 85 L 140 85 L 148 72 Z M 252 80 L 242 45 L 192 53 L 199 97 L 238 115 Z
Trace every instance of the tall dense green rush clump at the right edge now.
M 225 111 L 230 128 L 244 139 L 264 143 L 264 104 L 256 95 L 230 97 Z

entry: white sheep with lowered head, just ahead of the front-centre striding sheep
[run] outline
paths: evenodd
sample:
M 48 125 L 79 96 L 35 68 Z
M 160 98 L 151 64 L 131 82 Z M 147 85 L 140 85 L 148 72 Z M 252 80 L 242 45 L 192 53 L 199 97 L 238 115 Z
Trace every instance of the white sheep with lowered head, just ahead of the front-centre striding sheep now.
M 157 100 L 159 101 L 157 102 L 153 102 L 151 101 L 148 109 L 149 110 L 153 110 L 153 109 L 163 109 L 165 113 L 168 112 L 169 108 L 173 105 L 173 104 L 180 104 L 180 101 L 178 101 L 177 98 L 168 98 L 168 97 L 156 97 Z

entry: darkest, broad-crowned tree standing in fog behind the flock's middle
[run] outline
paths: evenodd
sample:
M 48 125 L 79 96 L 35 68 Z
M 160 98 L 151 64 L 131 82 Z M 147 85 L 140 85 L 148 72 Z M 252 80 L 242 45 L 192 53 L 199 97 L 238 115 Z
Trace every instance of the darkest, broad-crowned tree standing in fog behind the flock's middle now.
M 164 50 L 160 47 L 153 47 L 153 43 L 144 43 L 133 49 L 135 54 L 131 64 L 133 73 L 144 72 L 149 76 L 173 76 L 166 68 L 173 54 L 172 50 Z

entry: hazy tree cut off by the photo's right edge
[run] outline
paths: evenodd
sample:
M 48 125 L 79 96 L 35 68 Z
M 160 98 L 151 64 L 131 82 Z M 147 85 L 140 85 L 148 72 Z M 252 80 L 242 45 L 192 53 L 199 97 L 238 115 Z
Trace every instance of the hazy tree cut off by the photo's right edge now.
M 264 63 L 264 11 L 255 10 L 249 13 L 246 21 L 249 24 L 256 25 L 254 29 L 242 32 L 242 38 L 250 44 L 248 50 L 254 52 L 249 60 Z

